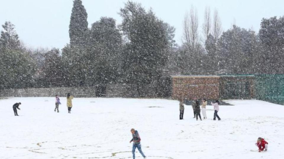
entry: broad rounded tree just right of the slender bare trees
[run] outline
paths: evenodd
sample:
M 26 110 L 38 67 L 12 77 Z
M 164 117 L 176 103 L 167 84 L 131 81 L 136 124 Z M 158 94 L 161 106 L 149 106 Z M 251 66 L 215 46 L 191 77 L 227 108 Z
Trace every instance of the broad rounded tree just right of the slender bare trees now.
M 253 71 L 253 54 L 256 37 L 251 30 L 233 26 L 223 32 L 218 41 L 218 67 L 232 74 L 250 74 Z

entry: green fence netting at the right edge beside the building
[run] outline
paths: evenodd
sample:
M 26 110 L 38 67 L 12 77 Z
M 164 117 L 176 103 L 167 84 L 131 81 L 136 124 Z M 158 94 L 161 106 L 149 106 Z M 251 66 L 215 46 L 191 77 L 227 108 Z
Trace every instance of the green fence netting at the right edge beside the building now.
M 256 99 L 284 104 L 284 74 L 255 75 Z

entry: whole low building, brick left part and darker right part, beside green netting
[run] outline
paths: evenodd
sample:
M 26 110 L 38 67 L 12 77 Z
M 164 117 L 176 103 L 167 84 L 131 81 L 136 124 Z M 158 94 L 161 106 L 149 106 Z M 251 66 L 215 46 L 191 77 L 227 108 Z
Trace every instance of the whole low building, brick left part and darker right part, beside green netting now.
M 255 98 L 253 75 L 172 76 L 172 99 Z

